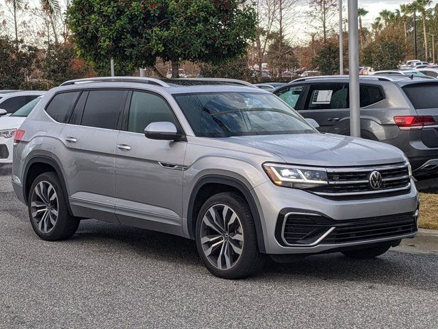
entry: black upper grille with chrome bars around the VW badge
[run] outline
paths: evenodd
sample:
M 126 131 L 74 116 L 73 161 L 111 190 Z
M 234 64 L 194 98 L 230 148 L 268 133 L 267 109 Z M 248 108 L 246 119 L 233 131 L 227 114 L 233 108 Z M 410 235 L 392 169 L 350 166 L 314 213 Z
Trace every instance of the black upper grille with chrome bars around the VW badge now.
M 308 191 L 333 200 L 390 197 L 411 191 L 407 162 L 381 167 L 329 168 L 327 171 L 329 184 L 310 188 Z M 378 188 L 373 188 L 370 184 L 373 171 L 381 174 L 382 183 Z

